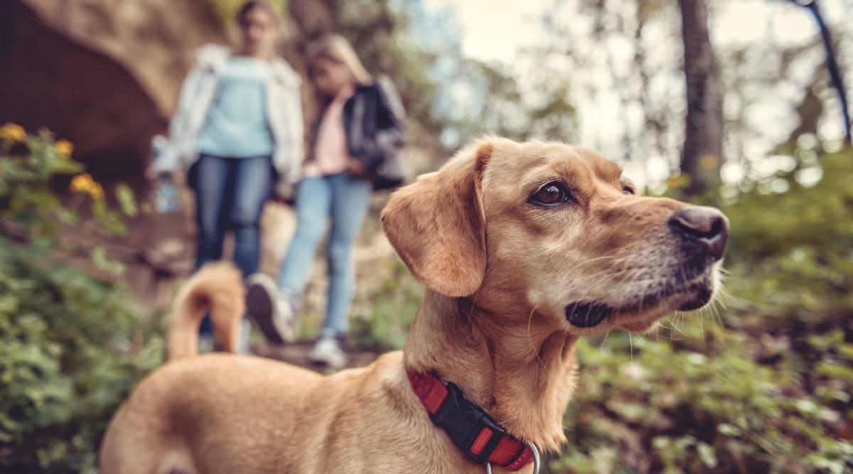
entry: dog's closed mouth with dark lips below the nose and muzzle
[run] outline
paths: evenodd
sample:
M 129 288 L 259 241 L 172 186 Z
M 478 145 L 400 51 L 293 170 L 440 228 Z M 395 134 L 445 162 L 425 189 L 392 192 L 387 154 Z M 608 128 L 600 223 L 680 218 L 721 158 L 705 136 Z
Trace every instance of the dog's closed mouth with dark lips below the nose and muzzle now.
M 711 270 L 711 269 L 709 269 Z M 648 313 L 654 310 L 654 317 L 657 320 L 660 317 L 661 306 L 668 303 L 669 308 L 664 308 L 665 312 L 671 310 L 690 311 L 699 309 L 714 296 L 714 279 L 712 271 L 706 271 L 698 278 L 682 282 L 681 284 L 664 283 L 660 286 L 657 292 L 649 293 L 641 298 L 638 298 L 634 303 L 612 306 L 607 303 L 597 301 L 576 301 L 569 303 L 566 306 L 566 321 L 574 327 L 588 329 L 596 327 L 601 322 L 611 319 L 617 315 L 640 315 L 641 317 L 630 317 L 631 320 L 637 322 L 635 326 L 644 326 Z M 646 315 L 646 318 L 642 317 Z M 640 324 L 642 322 L 642 324 Z

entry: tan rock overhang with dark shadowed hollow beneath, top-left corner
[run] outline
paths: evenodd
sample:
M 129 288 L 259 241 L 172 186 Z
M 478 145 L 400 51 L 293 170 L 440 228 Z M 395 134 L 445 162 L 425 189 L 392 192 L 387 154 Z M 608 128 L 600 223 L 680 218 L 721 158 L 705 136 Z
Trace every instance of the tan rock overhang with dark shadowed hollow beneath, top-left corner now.
M 138 175 L 194 47 L 223 41 L 198 2 L 0 4 L 0 122 L 47 127 L 107 180 Z

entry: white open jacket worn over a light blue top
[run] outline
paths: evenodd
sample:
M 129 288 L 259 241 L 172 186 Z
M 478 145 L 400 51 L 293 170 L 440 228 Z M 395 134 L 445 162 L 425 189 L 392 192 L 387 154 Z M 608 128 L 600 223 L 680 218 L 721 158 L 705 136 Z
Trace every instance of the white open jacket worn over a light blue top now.
M 198 139 L 216 95 L 219 74 L 231 51 L 226 46 L 209 44 L 196 51 L 196 64 L 183 81 L 177 111 L 169 124 L 169 144 L 154 161 L 154 171 L 187 170 L 199 159 Z M 279 173 L 276 193 L 290 195 L 299 181 L 304 160 L 304 125 L 299 74 L 287 62 L 271 64 L 267 83 L 267 121 L 276 149 L 272 162 Z

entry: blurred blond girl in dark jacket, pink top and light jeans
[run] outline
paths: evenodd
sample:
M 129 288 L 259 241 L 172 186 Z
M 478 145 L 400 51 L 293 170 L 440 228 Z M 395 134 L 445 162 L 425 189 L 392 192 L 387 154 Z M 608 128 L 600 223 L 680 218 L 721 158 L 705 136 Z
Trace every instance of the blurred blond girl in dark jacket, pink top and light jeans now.
M 296 231 L 278 284 L 264 275 L 249 280 L 247 309 L 270 340 L 293 339 L 316 248 L 331 220 L 326 318 L 310 359 L 339 368 L 345 365 L 342 344 L 355 284 L 352 244 L 371 191 L 403 182 L 398 155 L 405 119 L 391 81 L 371 77 L 345 38 L 329 36 L 312 44 L 308 64 L 322 113 L 310 134 L 296 192 Z

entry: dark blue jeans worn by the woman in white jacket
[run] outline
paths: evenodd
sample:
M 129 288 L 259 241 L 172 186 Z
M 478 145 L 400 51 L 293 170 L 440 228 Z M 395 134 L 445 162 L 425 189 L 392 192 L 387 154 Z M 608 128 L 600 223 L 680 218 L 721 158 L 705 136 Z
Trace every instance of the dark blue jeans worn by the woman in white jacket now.
M 195 269 L 222 259 L 225 233 L 233 230 L 234 263 L 244 278 L 252 275 L 258 271 L 260 260 L 261 211 L 276 182 L 272 159 L 202 154 L 192 172 L 199 230 Z M 200 332 L 212 332 L 206 316 Z

